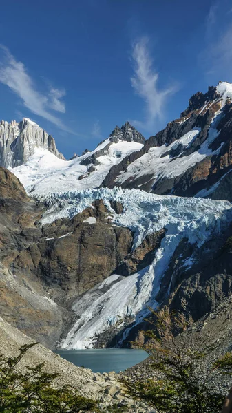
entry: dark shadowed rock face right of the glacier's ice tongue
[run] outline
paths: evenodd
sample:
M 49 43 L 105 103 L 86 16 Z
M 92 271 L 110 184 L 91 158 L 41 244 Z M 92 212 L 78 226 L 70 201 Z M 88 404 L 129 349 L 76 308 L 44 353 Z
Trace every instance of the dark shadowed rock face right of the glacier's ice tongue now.
M 212 313 L 232 294 L 232 227 L 218 234 L 200 249 L 183 239 L 169 262 L 162 277 L 156 297 L 158 312 L 174 312 L 180 321 L 180 330 Z M 189 266 L 187 260 L 191 257 Z M 149 319 L 149 317 L 147 317 Z M 154 316 L 150 319 L 155 321 Z M 147 340 L 140 330 L 152 330 L 154 325 L 143 321 L 129 332 L 124 345 L 130 341 Z M 182 326 L 182 327 L 181 327 Z M 120 340 L 121 333 L 114 344 Z

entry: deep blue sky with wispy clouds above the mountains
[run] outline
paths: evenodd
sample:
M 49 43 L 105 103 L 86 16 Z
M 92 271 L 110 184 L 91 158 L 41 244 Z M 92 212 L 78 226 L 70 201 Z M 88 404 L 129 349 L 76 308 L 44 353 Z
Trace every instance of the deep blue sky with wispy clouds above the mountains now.
M 8 0 L 0 43 L 0 118 L 35 120 L 68 158 L 232 82 L 232 1 Z

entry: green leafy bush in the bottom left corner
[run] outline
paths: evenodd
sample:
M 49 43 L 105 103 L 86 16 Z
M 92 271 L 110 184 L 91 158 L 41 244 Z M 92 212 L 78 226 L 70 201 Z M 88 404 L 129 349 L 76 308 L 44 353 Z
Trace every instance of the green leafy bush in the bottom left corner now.
M 78 394 L 68 385 L 54 388 L 57 373 L 43 371 L 44 363 L 27 366 L 20 372 L 19 362 L 35 344 L 21 346 L 17 357 L 0 355 L 0 412 L 78 413 L 95 411 L 96 401 Z

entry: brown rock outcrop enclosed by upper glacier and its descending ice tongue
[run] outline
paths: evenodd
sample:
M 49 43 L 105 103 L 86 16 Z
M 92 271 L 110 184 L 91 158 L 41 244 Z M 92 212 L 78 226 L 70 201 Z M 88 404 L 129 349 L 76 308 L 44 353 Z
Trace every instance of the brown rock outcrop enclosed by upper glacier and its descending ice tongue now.
M 60 304 L 111 275 L 131 251 L 129 229 L 111 224 L 102 201 L 72 220 L 56 220 L 14 258 L 14 271 L 34 273 Z

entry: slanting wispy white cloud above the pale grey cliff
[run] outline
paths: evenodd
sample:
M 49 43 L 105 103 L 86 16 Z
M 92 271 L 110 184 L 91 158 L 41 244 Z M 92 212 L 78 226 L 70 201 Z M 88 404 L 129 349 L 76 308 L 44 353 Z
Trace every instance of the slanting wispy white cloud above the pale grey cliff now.
M 46 94 L 42 94 L 36 89 L 34 81 L 28 74 L 25 65 L 14 59 L 10 51 L 0 45 L 3 59 L 0 63 L 0 82 L 10 87 L 12 92 L 17 94 L 23 101 L 23 105 L 30 109 L 33 114 L 54 123 L 64 131 L 74 133 L 61 119 L 50 112 L 50 109 L 65 113 L 65 104 L 60 100 L 65 96 L 64 89 L 50 87 Z

